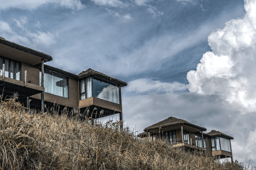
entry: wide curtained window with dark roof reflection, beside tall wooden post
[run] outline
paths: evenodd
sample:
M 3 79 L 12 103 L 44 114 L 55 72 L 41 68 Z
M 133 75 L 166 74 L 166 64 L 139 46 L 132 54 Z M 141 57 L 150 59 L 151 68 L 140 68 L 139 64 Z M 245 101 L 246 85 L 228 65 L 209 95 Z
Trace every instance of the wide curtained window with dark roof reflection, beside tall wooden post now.
M 48 70 L 44 70 L 44 82 L 45 92 L 54 94 L 57 96 L 69 97 L 68 91 L 68 77 L 61 74 L 57 74 Z M 41 86 L 41 71 L 40 71 L 40 86 Z

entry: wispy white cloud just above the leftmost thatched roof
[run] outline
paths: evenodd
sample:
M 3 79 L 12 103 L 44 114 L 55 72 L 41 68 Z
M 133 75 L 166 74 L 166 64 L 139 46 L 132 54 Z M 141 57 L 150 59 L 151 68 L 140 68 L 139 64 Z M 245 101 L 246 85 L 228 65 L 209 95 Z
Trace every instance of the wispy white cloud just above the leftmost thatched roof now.
M 36 31 L 31 32 L 26 24 L 27 18 L 21 16 L 19 19 L 13 19 L 15 25 L 11 27 L 9 23 L 0 20 L 0 33 L 1 37 L 8 39 L 9 41 L 15 41 L 18 44 L 26 45 L 30 48 L 38 48 L 41 46 L 50 47 L 56 43 L 55 37 L 50 32 Z M 38 25 L 39 22 L 35 24 Z M 15 31 L 18 28 L 20 32 Z M 22 36 L 21 36 L 22 35 Z

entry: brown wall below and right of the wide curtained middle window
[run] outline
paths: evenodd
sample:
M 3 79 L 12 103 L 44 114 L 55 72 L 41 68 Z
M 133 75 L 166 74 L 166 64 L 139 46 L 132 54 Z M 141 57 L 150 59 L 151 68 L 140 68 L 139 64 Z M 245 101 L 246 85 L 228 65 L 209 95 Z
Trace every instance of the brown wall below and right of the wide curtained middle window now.
M 31 96 L 32 98 L 41 99 L 41 94 Z M 44 100 L 52 103 L 78 108 L 79 107 L 79 89 L 78 80 L 69 77 L 69 98 L 56 96 L 54 94 L 44 93 Z

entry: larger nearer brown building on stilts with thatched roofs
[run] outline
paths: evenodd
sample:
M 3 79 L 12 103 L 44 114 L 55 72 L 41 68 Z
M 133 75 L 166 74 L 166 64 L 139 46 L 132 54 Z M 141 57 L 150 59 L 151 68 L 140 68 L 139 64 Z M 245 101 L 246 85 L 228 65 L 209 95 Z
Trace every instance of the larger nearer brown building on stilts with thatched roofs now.
M 126 82 L 92 69 L 76 75 L 45 65 L 52 57 L 0 37 L 0 92 L 3 99 L 18 92 L 25 107 L 41 112 L 54 103 L 61 109 L 79 108 L 93 118 L 118 114 L 122 120 L 121 87 Z M 30 101 L 31 100 L 31 101 Z M 103 114 L 99 111 L 104 110 Z M 96 113 L 97 111 L 97 113 Z M 91 112 L 90 112 L 91 115 Z

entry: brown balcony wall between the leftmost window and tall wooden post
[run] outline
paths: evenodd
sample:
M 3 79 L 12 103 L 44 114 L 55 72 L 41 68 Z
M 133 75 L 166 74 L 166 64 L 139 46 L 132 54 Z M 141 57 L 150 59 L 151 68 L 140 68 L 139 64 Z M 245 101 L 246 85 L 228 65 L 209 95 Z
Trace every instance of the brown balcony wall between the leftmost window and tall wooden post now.
M 39 74 L 40 68 L 29 65 L 27 63 L 21 63 L 21 81 L 24 81 L 24 71 L 27 70 L 27 83 L 31 81 L 31 84 L 39 86 Z

